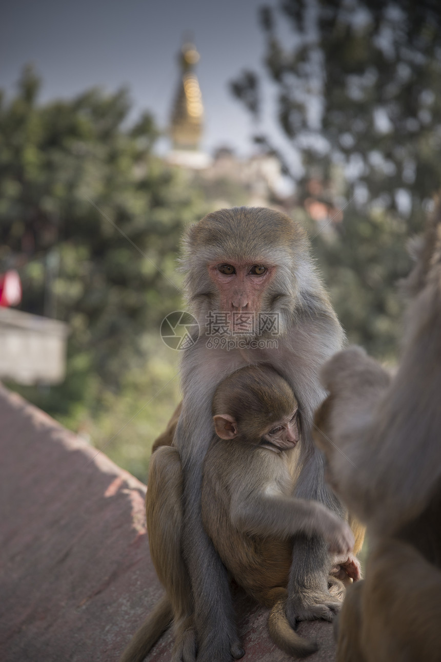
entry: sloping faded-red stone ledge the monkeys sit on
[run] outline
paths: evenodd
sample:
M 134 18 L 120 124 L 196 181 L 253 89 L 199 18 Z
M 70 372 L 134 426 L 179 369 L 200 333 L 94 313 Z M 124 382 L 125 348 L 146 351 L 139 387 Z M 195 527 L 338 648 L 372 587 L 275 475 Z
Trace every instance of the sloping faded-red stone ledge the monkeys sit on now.
M 145 531 L 145 485 L 0 387 L 2 662 L 116 662 L 161 595 Z M 244 662 L 285 662 L 266 610 L 237 596 Z M 332 625 L 311 662 L 333 662 Z M 170 659 L 171 636 L 148 659 Z

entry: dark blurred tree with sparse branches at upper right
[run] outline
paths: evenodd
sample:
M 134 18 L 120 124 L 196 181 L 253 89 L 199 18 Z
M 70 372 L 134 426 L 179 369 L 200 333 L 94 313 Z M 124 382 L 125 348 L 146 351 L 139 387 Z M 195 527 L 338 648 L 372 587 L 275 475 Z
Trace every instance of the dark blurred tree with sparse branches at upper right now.
M 315 221 L 333 303 L 350 340 L 387 357 L 399 334 L 405 242 L 441 181 L 441 5 L 284 0 L 260 17 L 288 138 L 282 162 Z M 256 121 L 261 89 L 253 71 L 231 84 Z M 274 148 L 267 136 L 255 140 Z

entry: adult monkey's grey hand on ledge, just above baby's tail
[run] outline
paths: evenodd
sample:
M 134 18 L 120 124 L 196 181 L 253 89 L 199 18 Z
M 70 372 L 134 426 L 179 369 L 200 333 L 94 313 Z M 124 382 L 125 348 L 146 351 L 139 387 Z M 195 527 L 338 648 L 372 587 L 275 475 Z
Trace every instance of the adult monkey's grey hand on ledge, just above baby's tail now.
M 328 591 L 301 587 L 300 591 L 290 596 L 286 602 L 286 618 L 292 628 L 296 626 L 296 622 L 302 620 L 331 622 L 340 609 L 340 600 Z

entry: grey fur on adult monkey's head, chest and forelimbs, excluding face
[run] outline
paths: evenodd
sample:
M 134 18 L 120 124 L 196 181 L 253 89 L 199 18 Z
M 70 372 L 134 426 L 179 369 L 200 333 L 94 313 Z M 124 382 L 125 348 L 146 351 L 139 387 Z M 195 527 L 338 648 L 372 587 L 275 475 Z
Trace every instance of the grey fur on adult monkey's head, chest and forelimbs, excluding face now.
M 293 220 L 273 210 L 231 209 L 209 214 L 190 228 L 181 260 L 186 291 L 201 328 L 208 310 L 216 310 L 216 289 L 207 265 L 216 261 L 251 260 L 277 267 L 262 303 L 279 312 L 279 347 L 266 350 L 207 350 L 206 336 L 186 350 L 182 359 L 183 406 L 175 446 L 184 471 L 183 552 L 194 592 L 198 662 L 229 662 L 237 649 L 233 608 L 223 567 L 200 519 L 202 463 L 212 438 L 211 400 L 216 386 L 243 365 L 270 363 L 298 394 L 303 420 L 298 496 L 315 498 L 341 512 L 323 482 L 323 459 L 311 442 L 313 410 L 323 399 L 318 379 L 323 362 L 344 340 L 341 326 L 309 255 L 305 232 Z M 265 308 L 265 307 L 268 308 Z M 311 543 L 312 540 L 312 543 Z M 321 539 L 298 538 L 292 569 L 294 590 L 303 598 L 292 605 L 290 620 L 332 618 L 326 607 L 329 554 Z M 311 578 L 311 591 L 303 587 Z

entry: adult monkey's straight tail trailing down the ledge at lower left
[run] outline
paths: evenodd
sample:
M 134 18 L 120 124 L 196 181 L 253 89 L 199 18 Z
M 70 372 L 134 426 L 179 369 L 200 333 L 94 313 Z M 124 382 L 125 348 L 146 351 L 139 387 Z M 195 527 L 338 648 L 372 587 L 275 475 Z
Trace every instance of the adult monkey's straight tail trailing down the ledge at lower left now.
M 169 628 L 173 621 L 173 609 L 167 593 L 155 604 L 132 641 L 122 653 L 119 662 L 142 662 L 153 644 Z

